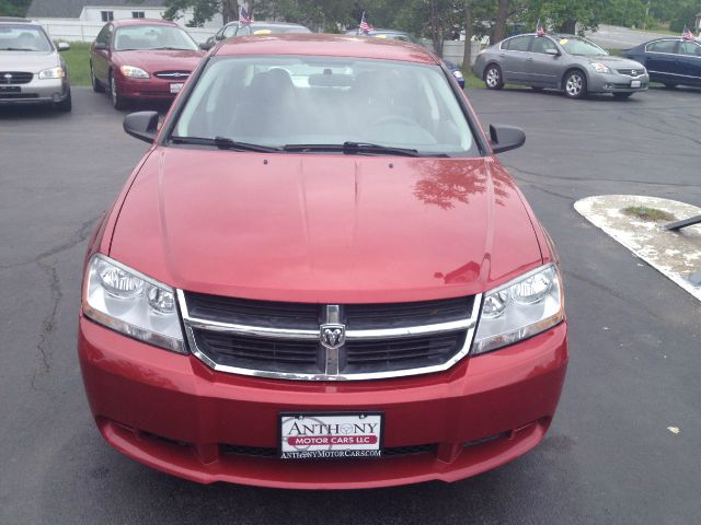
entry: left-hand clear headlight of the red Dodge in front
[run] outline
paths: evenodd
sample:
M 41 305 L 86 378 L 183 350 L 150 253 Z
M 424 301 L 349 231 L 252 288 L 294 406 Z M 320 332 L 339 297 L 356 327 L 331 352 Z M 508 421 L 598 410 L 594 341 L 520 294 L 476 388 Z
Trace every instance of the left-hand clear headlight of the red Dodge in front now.
M 135 339 L 187 353 L 175 291 L 104 255 L 88 265 L 83 313 Z

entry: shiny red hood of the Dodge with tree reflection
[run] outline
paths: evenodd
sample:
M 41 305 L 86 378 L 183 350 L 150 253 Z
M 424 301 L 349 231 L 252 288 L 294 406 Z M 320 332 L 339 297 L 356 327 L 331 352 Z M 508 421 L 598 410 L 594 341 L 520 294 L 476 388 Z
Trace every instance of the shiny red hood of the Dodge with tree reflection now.
M 110 255 L 185 290 L 345 303 L 474 294 L 542 261 L 493 159 L 176 148 L 143 163 Z

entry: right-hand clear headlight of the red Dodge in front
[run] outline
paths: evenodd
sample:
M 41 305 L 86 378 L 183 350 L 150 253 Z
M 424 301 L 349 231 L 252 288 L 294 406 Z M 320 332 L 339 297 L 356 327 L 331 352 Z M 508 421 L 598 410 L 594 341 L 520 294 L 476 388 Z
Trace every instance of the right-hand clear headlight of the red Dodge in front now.
M 472 354 L 532 337 L 563 318 L 562 287 L 556 266 L 548 265 L 529 271 L 484 295 Z

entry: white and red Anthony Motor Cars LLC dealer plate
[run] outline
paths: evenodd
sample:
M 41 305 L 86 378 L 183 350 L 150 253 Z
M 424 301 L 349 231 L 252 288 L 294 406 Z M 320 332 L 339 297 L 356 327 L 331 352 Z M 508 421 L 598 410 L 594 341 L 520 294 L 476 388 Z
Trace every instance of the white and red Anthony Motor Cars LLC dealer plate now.
M 281 459 L 380 457 L 382 413 L 280 413 Z

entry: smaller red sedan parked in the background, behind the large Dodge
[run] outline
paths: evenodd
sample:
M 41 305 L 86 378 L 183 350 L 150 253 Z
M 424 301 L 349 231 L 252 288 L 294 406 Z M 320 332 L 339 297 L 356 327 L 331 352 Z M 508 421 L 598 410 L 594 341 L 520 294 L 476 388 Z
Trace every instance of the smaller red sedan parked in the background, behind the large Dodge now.
M 110 22 L 90 48 L 92 89 L 108 90 L 116 109 L 131 101 L 173 100 L 204 55 L 173 22 Z

